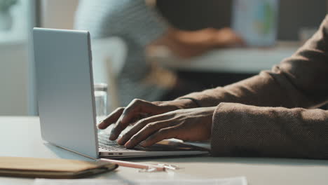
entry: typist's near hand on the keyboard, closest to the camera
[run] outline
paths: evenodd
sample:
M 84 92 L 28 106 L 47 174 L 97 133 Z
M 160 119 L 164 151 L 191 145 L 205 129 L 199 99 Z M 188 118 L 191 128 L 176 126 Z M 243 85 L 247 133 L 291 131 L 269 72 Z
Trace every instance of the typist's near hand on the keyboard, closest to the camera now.
M 210 139 L 214 110 L 215 107 L 179 109 L 143 118 L 118 139 L 118 144 L 131 149 L 140 142 L 146 147 L 170 138 L 190 141 Z

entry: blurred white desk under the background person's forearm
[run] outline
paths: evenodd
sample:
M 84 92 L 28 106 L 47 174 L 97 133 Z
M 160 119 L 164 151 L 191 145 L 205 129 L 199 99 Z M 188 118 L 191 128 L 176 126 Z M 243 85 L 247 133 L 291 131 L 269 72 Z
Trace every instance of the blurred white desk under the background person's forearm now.
M 278 42 L 272 48 L 224 48 L 182 59 L 159 46 L 148 54 L 149 60 L 173 70 L 257 74 L 290 57 L 299 47 L 296 42 Z

